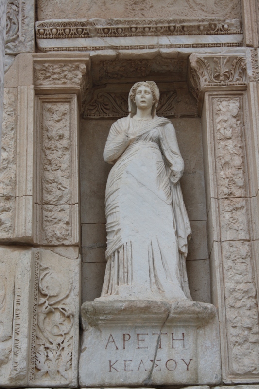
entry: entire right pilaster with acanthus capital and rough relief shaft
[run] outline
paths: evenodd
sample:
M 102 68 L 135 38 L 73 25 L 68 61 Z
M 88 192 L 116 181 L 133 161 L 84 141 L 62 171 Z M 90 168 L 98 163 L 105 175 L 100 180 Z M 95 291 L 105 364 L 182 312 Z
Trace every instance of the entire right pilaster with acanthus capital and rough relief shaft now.
M 190 56 L 190 86 L 202 113 L 211 295 L 225 383 L 259 379 L 258 101 L 246 68 L 245 53 Z

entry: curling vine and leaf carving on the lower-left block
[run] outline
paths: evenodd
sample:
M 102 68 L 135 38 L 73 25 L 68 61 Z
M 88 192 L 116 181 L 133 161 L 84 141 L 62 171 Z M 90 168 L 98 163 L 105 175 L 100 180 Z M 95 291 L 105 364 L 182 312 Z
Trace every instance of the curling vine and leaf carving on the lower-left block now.
M 35 367 L 36 376 L 41 378 L 48 374 L 56 379 L 58 373 L 69 380 L 72 367 L 73 314 L 67 307 L 66 297 L 72 289 L 72 281 L 62 274 L 53 272 L 49 267 L 41 266 L 39 279 L 39 313 L 37 350 Z M 68 286 L 66 286 L 68 285 Z

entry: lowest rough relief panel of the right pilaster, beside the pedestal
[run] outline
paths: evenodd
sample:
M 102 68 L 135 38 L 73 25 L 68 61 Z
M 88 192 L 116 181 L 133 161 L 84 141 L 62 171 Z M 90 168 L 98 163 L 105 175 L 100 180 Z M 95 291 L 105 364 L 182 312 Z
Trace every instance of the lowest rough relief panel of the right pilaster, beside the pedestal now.
M 226 331 L 232 374 L 259 373 L 257 291 L 250 242 L 222 243 Z

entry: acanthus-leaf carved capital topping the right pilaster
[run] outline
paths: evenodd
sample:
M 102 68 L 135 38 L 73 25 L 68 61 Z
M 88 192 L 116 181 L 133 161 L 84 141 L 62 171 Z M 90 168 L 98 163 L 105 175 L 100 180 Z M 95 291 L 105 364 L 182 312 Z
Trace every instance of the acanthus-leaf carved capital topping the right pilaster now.
M 247 88 L 246 58 L 235 54 L 191 54 L 188 82 L 201 114 L 205 92 Z

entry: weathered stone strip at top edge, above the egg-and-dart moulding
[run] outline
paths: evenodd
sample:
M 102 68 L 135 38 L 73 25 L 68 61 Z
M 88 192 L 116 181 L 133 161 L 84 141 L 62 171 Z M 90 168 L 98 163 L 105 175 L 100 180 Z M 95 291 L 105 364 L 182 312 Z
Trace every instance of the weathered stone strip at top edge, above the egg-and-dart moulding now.
M 53 9 L 55 10 L 53 12 Z M 69 18 L 241 18 L 240 0 L 39 0 L 38 20 Z

